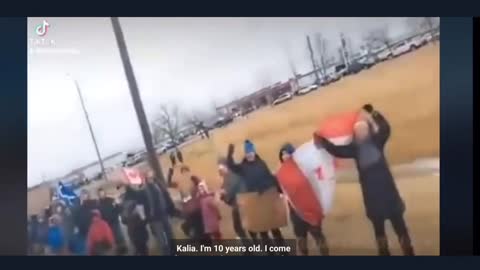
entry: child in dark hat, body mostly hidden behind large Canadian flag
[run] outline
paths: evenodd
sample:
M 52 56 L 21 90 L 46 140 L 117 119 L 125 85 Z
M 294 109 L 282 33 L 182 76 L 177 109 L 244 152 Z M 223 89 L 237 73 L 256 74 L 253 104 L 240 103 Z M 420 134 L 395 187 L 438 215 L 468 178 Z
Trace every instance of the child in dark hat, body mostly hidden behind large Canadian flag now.
M 293 153 L 295 152 L 295 147 L 286 143 L 280 148 L 279 159 L 283 163 L 286 160 L 292 158 Z M 284 195 L 286 195 L 284 193 Z M 287 198 L 288 199 L 288 198 Z M 288 208 L 290 213 L 290 221 L 292 222 L 293 232 L 297 238 L 297 245 L 300 250 L 301 255 L 308 255 L 308 245 L 307 245 L 307 234 L 310 235 L 315 240 L 317 247 L 320 250 L 320 254 L 327 256 L 329 255 L 327 240 L 322 231 L 322 224 L 318 226 L 313 226 L 303 220 L 300 215 L 296 212 L 295 208 L 292 206 L 290 201 L 288 202 Z

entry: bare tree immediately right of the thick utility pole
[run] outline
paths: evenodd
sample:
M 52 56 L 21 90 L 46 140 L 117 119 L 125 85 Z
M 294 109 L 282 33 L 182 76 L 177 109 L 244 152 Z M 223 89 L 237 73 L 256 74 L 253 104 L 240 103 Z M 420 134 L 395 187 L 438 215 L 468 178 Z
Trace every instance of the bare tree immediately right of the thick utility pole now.
M 160 105 L 159 112 L 151 123 L 154 143 L 160 143 L 165 137 L 176 142 L 181 124 L 180 109 L 177 105 Z

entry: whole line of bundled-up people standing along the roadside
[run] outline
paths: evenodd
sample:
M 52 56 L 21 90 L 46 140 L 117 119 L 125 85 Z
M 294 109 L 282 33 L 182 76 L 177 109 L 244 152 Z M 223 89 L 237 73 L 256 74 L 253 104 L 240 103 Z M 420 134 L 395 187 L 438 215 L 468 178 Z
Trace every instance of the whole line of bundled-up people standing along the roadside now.
M 317 147 L 324 148 L 339 158 L 351 158 L 359 171 L 367 217 L 373 225 L 379 255 L 390 255 L 385 234 L 385 221 L 390 220 L 399 238 L 405 255 L 414 255 L 406 222 L 403 218 L 405 205 L 395 185 L 384 156 L 384 147 L 390 137 L 390 125 L 381 113 L 367 104 L 362 108 L 364 117 L 354 126 L 353 140 L 347 145 L 335 145 L 321 134 L 314 133 Z M 141 184 L 123 185 L 122 199 L 114 200 L 104 190 L 98 190 L 98 199 L 93 199 L 83 190 L 78 204 L 68 205 L 59 200 L 45 209 L 42 215 L 34 215 L 29 221 L 31 254 L 77 254 L 108 255 L 127 254 L 127 241 L 122 232 L 127 227 L 128 239 L 133 254 L 148 255 L 149 236 L 153 235 L 162 255 L 175 254 L 175 236 L 171 218 L 181 218 L 181 229 L 192 241 L 211 244 L 222 239 L 219 198 L 231 207 L 233 229 L 245 245 L 264 243 L 284 245 L 280 228 L 252 232 L 244 228 L 240 214 L 238 195 L 245 192 L 263 193 L 275 188 L 283 189 L 272 170 L 259 156 L 250 140 L 244 142 L 244 158 L 235 162 L 235 148 L 228 147 L 226 157 L 218 160 L 218 173 L 223 185 L 211 191 L 202 177 L 193 173 L 183 163 L 181 152 L 170 155 L 172 168 L 168 172 L 168 184 L 175 187 L 175 170 L 180 166 L 180 176 L 191 181 L 191 190 L 183 196 L 177 207 L 166 187 L 155 181 L 153 174 L 145 175 Z M 285 143 L 279 149 L 280 163 L 292 158 L 295 147 Z M 177 162 L 178 161 L 178 162 Z M 177 164 L 179 163 L 179 164 Z M 184 194 L 185 195 L 185 194 Z M 289 215 L 301 255 L 308 255 L 307 235 L 310 234 L 322 255 L 329 255 L 329 245 L 322 229 L 322 222 L 310 224 L 295 210 L 287 194 Z M 151 234 L 149 233 L 149 230 Z M 247 252 L 245 255 L 248 255 Z M 270 255 L 284 255 L 273 254 Z

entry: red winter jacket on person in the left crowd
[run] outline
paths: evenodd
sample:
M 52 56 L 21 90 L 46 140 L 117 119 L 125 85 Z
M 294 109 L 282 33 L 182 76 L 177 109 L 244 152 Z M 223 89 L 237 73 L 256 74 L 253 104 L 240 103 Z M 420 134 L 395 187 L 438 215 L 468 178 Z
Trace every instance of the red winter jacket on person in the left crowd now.
M 97 247 L 112 248 L 115 243 L 113 232 L 108 223 L 102 219 L 98 210 L 93 211 L 92 224 L 87 236 L 87 251 L 95 255 Z

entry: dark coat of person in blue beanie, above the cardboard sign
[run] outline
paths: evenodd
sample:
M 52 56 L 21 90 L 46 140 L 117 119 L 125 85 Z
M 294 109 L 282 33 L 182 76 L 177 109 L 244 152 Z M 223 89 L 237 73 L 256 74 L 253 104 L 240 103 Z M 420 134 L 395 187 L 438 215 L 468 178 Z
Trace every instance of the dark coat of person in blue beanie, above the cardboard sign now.
M 265 161 L 256 155 L 254 161 L 243 159 L 236 164 L 233 156 L 227 157 L 228 168 L 245 180 L 247 192 L 264 192 L 271 187 L 278 186 L 276 177 L 272 174 Z

